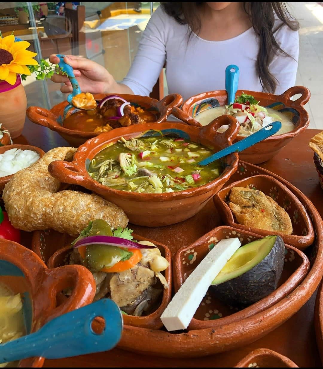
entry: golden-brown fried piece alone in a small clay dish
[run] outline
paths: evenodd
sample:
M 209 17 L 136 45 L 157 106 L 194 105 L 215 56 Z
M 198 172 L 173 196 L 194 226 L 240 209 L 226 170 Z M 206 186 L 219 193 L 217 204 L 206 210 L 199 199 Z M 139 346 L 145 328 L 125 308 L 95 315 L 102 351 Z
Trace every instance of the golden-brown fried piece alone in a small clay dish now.
M 292 221 L 288 213 L 263 192 L 245 187 L 233 187 L 229 200 L 229 208 L 239 224 L 292 234 Z

